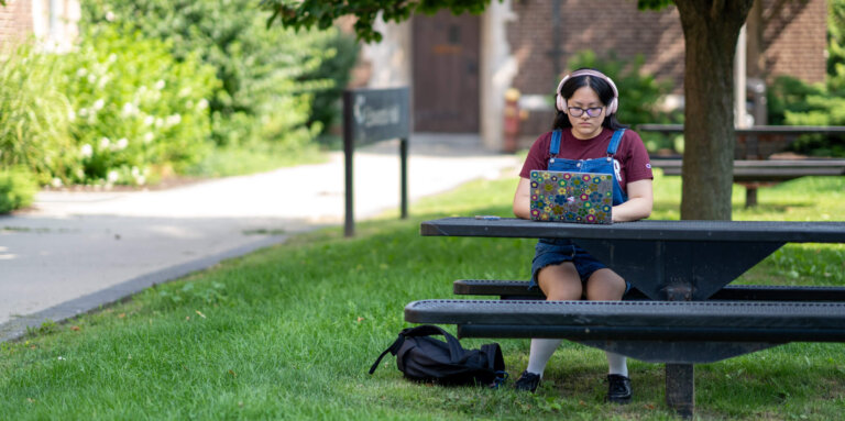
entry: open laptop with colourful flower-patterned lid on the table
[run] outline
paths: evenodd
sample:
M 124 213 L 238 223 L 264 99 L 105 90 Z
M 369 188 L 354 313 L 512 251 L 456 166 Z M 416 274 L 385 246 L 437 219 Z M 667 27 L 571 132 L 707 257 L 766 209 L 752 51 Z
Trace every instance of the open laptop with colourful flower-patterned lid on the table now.
M 600 173 L 531 171 L 531 220 L 613 223 L 613 176 Z

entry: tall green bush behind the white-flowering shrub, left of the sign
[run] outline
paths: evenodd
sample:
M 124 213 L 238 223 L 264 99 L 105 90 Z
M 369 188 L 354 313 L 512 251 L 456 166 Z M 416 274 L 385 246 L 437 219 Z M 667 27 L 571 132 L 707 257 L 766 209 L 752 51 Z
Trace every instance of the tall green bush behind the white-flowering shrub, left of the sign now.
M 330 79 L 300 77 L 317 69 L 330 34 L 266 26 L 267 12 L 251 0 L 86 0 L 84 22 L 133 25 L 144 37 L 168 40 L 172 54 L 199 54 L 222 84 L 210 100 L 218 145 L 271 142 L 290 149 L 322 126 L 308 126 L 314 92 Z

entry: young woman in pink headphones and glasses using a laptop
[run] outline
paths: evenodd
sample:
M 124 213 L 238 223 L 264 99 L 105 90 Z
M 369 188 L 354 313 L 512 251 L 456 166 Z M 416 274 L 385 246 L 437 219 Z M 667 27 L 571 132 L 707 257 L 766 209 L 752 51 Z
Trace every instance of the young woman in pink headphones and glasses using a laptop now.
M 639 135 L 616 120 L 618 101 L 613 80 L 597 70 L 579 69 L 560 81 L 552 132 L 537 139 L 519 173 L 516 217 L 530 218 L 533 169 L 613 174 L 613 221 L 635 221 L 651 213 L 651 164 Z M 621 300 L 628 284 L 571 241 L 541 239 L 531 263 L 531 287 L 539 287 L 547 300 Z M 561 342 L 531 340 L 528 367 L 516 380 L 516 389 L 537 389 L 546 363 Z M 607 399 L 625 403 L 632 396 L 627 361 L 606 354 Z

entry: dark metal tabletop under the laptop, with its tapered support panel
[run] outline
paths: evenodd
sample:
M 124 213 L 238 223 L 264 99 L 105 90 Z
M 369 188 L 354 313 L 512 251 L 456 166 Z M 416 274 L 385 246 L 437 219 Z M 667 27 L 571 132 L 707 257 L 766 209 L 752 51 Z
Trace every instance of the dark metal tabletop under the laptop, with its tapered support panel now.
M 610 225 L 504 218 L 422 222 L 427 236 L 571 239 L 654 300 L 706 300 L 786 243 L 845 243 L 845 222 L 637 221 Z

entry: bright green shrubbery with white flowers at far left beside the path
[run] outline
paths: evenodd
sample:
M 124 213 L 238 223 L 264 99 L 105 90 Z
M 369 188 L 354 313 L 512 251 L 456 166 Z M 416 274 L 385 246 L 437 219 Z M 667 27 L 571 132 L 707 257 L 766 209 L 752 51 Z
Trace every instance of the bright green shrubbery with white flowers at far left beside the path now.
M 144 184 L 210 147 L 213 69 L 166 44 L 98 26 L 67 54 L 0 58 L 0 165 L 42 185 Z

